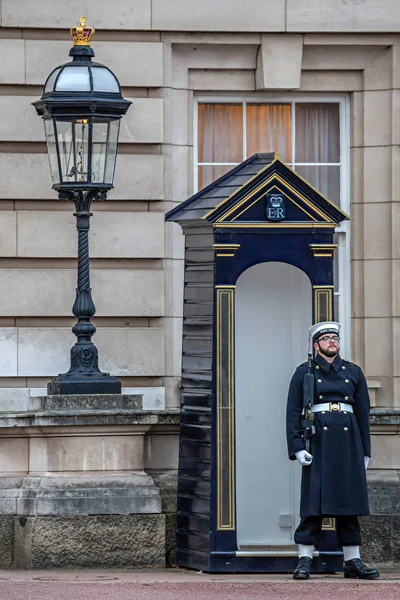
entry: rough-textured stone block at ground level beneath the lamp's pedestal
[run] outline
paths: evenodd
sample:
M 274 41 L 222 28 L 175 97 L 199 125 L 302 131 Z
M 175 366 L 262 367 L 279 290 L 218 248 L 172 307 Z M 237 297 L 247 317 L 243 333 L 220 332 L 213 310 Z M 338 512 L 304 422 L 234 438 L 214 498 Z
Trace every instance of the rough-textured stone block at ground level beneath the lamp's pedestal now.
M 165 515 L 0 516 L 0 568 L 162 568 Z

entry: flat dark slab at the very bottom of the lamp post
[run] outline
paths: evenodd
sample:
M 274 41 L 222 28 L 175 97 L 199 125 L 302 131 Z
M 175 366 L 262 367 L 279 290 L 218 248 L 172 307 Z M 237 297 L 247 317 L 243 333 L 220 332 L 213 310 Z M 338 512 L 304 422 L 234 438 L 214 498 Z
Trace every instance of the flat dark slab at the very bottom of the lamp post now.
M 47 384 L 47 393 L 60 394 L 120 394 L 121 382 L 112 375 L 59 375 Z

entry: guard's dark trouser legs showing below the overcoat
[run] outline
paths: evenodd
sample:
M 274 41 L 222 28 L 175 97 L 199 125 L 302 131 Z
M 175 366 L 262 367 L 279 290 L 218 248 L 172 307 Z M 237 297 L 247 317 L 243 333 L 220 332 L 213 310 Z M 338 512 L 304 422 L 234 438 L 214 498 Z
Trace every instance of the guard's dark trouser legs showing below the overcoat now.
M 304 517 L 294 534 L 296 544 L 307 546 L 318 546 L 321 537 L 321 525 L 323 517 Z M 358 517 L 346 515 L 335 517 L 336 538 L 339 548 L 342 546 L 360 546 L 361 533 Z

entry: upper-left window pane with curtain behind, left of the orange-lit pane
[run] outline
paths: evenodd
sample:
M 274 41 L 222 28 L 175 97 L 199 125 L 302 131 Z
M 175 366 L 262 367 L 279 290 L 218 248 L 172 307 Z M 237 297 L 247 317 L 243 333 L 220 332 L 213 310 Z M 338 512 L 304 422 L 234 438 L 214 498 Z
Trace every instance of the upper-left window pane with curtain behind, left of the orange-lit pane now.
M 241 104 L 199 104 L 198 121 L 198 162 L 242 162 Z

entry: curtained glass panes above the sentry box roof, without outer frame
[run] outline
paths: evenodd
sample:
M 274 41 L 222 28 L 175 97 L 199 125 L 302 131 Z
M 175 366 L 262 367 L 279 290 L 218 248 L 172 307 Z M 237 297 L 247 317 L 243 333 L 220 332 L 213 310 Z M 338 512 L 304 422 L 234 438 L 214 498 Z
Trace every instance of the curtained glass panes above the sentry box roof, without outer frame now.
M 256 152 L 279 152 L 332 202 L 340 202 L 339 104 L 198 104 L 198 189 Z

